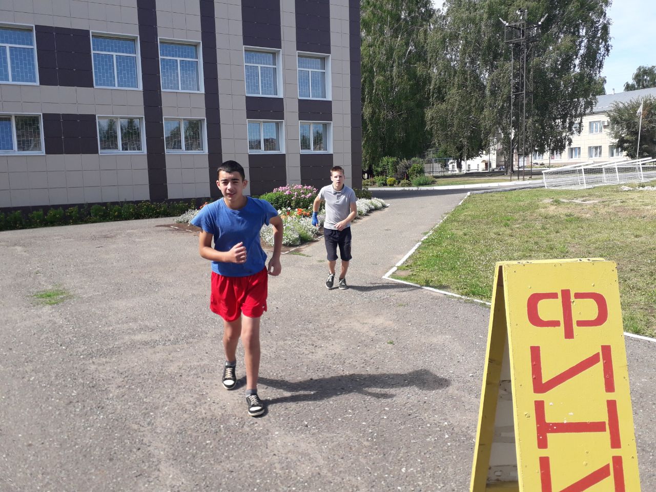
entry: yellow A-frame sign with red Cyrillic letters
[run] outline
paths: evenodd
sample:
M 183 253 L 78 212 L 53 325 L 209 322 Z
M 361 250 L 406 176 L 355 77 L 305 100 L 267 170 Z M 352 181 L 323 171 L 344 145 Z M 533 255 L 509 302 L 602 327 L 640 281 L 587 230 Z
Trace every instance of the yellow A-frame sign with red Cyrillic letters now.
M 614 262 L 499 262 L 470 492 L 640 492 Z

